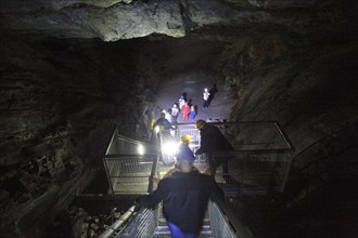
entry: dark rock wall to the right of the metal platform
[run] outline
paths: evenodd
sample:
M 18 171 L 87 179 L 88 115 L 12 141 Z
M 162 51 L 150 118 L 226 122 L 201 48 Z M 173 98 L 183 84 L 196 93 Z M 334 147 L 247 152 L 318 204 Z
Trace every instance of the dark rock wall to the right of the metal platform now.
M 292 141 L 290 204 L 358 174 L 358 44 L 340 36 L 301 44 L 277 35 L 236 41 L 218 63 L 235 101 L 232 120 L 277 120 Z

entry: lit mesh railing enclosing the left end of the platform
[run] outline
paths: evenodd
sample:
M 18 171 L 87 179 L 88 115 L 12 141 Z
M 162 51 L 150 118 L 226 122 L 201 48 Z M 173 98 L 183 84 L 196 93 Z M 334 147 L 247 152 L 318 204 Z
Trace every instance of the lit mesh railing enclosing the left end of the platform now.
M 151 191 L 154 183 L 149 177 L 154 176 L 157 169 L 157 155 L 153 151 L 148 144 L 122 136 L 115 129 L 103 159 L 111 194 Z

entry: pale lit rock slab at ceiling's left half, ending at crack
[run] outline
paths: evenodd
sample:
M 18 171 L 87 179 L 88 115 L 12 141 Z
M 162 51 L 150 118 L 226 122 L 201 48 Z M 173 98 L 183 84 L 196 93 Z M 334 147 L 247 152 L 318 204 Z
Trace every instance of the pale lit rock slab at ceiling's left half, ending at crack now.
M 107 3 L 107 4 L 105 4 Z M 66 38 L 116 41 L 152 34 L 183 37 L 178 1 L 20 1 L 2 3 L 4 28 L 33 30 Z M 18 15 L 26 13 L 25 15 Z M 9 17 L 9 18 L 8 18 Z

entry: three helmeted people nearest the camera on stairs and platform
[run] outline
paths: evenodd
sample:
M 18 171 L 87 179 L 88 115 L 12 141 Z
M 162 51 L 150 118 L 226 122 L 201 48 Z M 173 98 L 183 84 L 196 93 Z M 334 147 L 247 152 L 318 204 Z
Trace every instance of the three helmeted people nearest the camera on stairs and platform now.
M 208 200 L 225 199 L 214 176 L 220 164 L 223 174 L 228 173 L 228 160 L 209 157 L 209 175 L 200 173 L 194 167 L 194 160 L 195 155 L 227 151 L 233 148 L 217 127 L 208 124 L 204 120 L 197 120 L 195 127 L 201 132 L 200 148 L 194 154 L 189 147 L 190 135 L 183 135 L 176 154 L 175 168 L 158 182 L 156 190 L 137 200 L 145 208 L 153 208 L 163 201 L 163 214 L 172 238 L 197 237 Z

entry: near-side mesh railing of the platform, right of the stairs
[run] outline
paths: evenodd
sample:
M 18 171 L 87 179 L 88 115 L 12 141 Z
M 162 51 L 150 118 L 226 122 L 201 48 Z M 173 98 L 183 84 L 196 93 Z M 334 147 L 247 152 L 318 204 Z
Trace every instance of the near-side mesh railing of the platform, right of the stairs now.
M 229 196 L 283 191 L 292 161 L 291 154 L 227 151 L 210 156 L 214 160 L 228 162 L 228 173 L 223 173 L 220 166 L 215 180 L 226 183 L 226 195 Z

